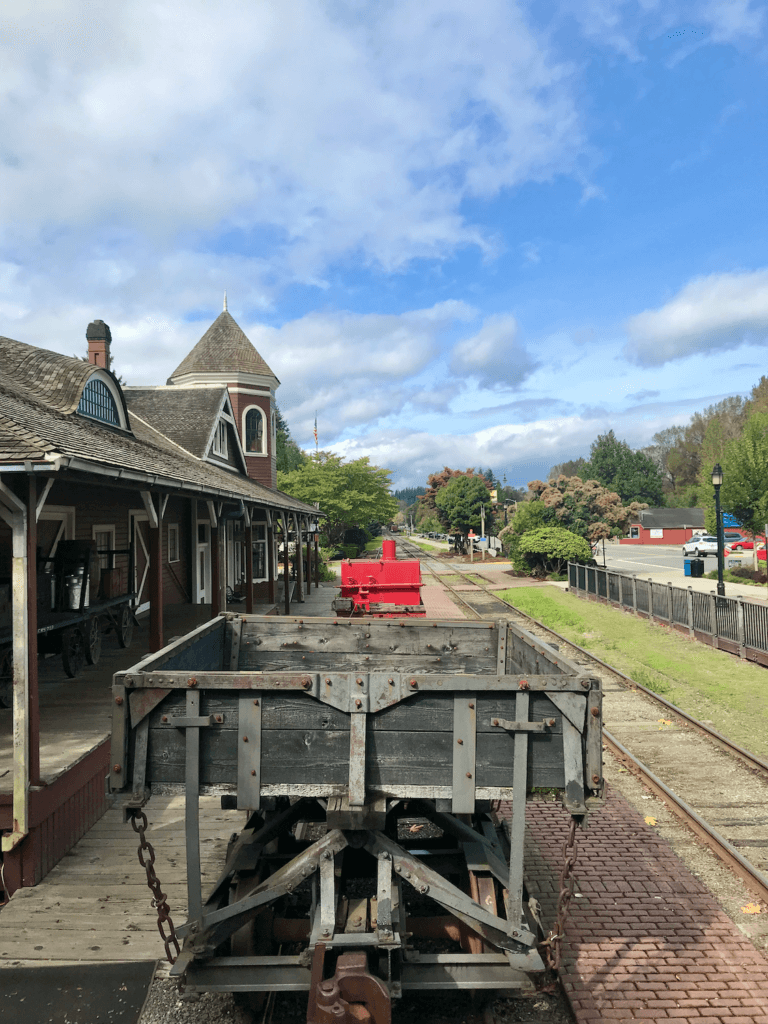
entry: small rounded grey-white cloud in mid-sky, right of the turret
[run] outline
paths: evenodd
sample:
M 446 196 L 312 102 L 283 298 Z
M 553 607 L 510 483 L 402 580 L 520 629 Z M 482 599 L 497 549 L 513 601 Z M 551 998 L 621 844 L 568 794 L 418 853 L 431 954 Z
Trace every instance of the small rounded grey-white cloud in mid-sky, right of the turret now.
M 536 361 L 517 338 L 517 321 L 509 313 L 488 316 L 477 334 L 454 346 L 451 371 L 469 376 L 480 386 L 519 384 Z

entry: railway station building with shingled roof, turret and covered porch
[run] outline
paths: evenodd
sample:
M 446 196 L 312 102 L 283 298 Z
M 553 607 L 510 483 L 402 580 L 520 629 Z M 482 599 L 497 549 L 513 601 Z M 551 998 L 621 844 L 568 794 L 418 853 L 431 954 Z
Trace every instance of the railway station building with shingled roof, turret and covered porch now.
M 39 881 L 105 808 L 105 735 L 87 750 L 58 742 L 54 762 L 41 761 L 41 730 L 45 745 L 70 709 L 46 709 L 55 687 L 41 690 L 40 671 L 72 687 L 74 708 L 78 684 L 66 680 L 102 644 L 124 646 L 148 624 L 143 642 L 159 650 L 169 628 L 186 632 L 226 610 L 227 598 L 247 611 L 288 611 L 309 585 L 303 558 L 291 580 L 288 542 L 307 545 L 307 565 L 314 543 L 316 559 L 316 509 L 275 487 L 280 381 L 226 304 L 157 387 L 121 386 L 102 321 L 86 338 L 87 360 L 0 337 L 6 893 Z M 109 699 L 97 701 L 108 702 L 104 731 Z M 82 703 L 75 732 L 96 714 Z

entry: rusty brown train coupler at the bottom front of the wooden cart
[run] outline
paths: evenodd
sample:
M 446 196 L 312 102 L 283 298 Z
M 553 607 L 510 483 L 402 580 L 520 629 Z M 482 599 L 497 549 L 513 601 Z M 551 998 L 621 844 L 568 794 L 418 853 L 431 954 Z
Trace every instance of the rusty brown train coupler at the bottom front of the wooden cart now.
M 344 953 L 333 978 L 324 979 L 326 945 L 312 957 L 307 1024 L 391 1024 L 392 1001 L 385 983 L 368 970 L 365 953 Z

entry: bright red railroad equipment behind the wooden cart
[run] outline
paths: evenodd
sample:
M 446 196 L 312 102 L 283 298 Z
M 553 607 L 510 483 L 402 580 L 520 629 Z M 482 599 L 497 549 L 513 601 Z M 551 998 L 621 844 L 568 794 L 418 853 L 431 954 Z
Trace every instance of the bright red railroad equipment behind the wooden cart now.
M 395 542 L 384 541 L 381 558 L 341 563 L 341 595 L 333 606 L 352 615 L 424 616 L 422 587 L 419 562 L 398 561 Z

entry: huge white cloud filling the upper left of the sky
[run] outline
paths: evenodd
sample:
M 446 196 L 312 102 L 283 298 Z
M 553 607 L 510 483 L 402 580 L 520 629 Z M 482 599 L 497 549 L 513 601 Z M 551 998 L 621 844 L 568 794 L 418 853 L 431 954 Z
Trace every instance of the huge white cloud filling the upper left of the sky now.
M 28 242 L 67 225 L 74 249 L 106 223 L 162 248 L 228 225 L 271 232 L 287 279 L 350 252 L 392 269 L 485 245 L 461 202 L 568 172 L 583 141 L 570 70 L 508 0 L 3 17 L 0 194 Z

